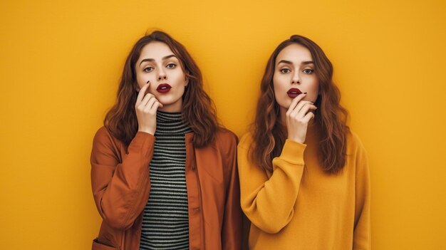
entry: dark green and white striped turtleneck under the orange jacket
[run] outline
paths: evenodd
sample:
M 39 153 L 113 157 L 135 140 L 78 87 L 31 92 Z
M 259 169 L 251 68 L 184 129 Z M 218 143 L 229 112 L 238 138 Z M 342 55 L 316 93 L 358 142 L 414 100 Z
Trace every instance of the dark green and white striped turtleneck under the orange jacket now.
M 181 113 L 157 111 L 150 196 L 142 217 L 140 249 L 189 249 L 185 134 Z

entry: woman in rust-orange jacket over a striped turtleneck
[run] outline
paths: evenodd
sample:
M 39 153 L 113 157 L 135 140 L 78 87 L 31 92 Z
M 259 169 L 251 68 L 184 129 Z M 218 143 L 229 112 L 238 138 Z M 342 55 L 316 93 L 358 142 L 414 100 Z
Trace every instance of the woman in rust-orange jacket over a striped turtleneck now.
M 140 38 L 93 140 L 93 250 L 240 249 L 236 149 L 185 47 L 161 31 Z

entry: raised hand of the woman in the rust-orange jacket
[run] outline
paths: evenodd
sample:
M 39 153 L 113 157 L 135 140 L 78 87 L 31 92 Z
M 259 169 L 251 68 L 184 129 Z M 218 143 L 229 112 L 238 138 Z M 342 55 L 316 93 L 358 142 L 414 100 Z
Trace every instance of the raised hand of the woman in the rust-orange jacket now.
M 138 93 L 135 103 L 136 118 L 138 118 L 138 131 L 147 132 L 151 135 L 155 135 L 157 127 L 157 109 L 162 108 L 155 95 L 146 93 L 150 86 L 150 82 L 147 82 Z

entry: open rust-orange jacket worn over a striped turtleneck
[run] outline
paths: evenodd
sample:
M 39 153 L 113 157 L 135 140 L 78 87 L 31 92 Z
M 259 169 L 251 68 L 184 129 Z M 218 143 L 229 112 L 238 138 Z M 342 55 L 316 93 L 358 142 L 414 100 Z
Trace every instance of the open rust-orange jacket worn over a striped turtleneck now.
M 242 211 L 237 136 L 217 132 L 213 145 L 195 148 L 186 134 L 190 249 L 240 249 Z M 155 137 L 138 132 L 126 149 L 101 127 L 93 140 L 91 186 L 103 218 L 93 250 L 139 250 L 142 212 L 150 194 L 149 163 Z

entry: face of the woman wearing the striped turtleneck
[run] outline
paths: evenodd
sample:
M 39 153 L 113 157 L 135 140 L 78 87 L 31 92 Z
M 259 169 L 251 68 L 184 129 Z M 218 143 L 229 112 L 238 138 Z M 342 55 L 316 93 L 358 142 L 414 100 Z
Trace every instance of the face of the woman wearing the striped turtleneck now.
M 136 62 L 135 72 L 140 88 L 150 81 L 147 93 L 152 93 L 162 103 L 163 107 L 159 110 L 182 110 L 182 95 L 188 81 L 180 61 L 167 44 L 154 41 L 144 46 Z

